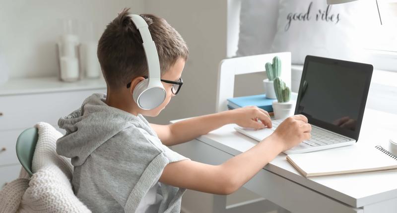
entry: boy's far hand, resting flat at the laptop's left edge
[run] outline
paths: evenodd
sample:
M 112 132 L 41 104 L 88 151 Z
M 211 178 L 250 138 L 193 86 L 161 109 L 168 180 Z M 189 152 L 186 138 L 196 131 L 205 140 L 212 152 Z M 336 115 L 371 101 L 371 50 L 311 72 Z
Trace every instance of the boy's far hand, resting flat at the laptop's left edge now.
M 267 111 L 257 106 L 245 106 L 229 110 L 233 123 L 246 128 L 271 128 L 271 120 Z

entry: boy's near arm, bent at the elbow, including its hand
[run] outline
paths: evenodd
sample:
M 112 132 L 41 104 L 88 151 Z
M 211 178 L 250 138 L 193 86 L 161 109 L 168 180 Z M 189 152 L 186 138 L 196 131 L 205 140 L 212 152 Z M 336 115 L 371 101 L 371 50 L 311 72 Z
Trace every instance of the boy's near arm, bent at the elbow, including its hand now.
M 160 182 L 196 191 L 231 194 L 250 180 L 280 152 L 310 138 L 311 126 L 303 115 L 294 115 L 279 125 L 276 131 L 245 153 L 220 165 L 208 165 L 191 160 L 169 163 Z

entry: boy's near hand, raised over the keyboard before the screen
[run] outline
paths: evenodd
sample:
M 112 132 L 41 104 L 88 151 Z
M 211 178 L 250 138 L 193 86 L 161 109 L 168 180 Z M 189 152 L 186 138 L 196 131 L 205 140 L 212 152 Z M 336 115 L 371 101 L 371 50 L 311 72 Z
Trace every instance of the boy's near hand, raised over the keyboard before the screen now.
M 274 141 L 281 142 L 282 151 L 295 147 L 304 140 L 309 140 L 312 126 L 307 117 L 296 114 L 285 119 L 269 137 L 276 138 Z

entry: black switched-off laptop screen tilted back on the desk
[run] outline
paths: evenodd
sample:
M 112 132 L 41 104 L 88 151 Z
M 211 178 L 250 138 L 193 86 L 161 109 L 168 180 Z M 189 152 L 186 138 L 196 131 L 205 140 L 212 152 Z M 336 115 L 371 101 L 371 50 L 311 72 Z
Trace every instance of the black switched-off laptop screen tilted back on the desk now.
M 307 56 L 295 114 L 358 140 L 372 65 Z

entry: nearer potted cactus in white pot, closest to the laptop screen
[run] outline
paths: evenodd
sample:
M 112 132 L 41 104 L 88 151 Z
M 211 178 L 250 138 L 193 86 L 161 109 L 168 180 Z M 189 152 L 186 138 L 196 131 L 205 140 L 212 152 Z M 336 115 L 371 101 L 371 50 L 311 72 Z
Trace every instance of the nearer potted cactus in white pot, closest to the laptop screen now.
M 275 119 L 284 119 L 294 114 L 294 104 L 290 101 L 291 90 L 279 77 L 273 80 L 277 101 L 273 102 Z

